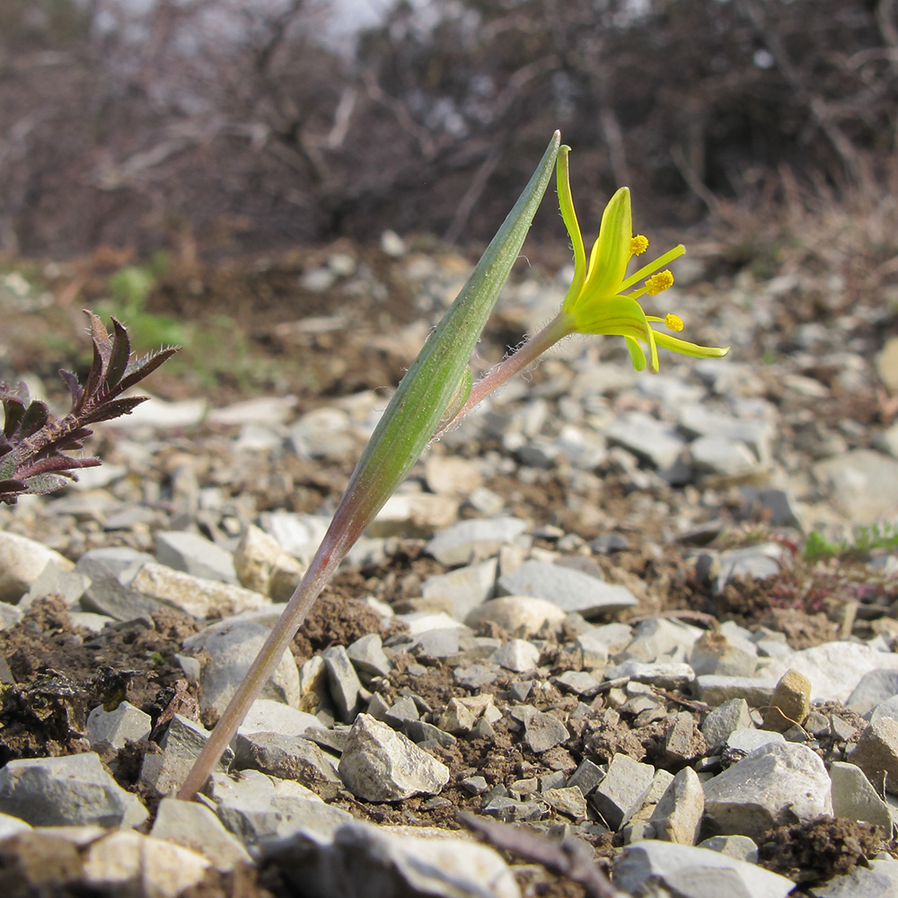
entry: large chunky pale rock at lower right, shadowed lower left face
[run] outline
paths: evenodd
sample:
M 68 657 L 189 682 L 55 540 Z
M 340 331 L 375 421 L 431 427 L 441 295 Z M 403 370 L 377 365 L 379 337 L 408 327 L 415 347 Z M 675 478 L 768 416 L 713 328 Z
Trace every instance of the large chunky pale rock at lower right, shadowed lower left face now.
M 830 779 L 805 745 L 764 745 L 705 783 L 706 820 L 717 834 L 757 840 L 820 814 L 832 814 Z

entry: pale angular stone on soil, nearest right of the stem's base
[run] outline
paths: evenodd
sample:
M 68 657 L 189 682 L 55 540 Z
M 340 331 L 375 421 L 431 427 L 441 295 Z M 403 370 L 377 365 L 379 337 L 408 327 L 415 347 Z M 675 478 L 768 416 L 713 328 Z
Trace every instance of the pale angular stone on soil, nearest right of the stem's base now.
M 449 769 L 407 736 L 367 714 L 359 714 L 338 768 L 353 795 L 367 801 L 397 801 L 437 795 Z

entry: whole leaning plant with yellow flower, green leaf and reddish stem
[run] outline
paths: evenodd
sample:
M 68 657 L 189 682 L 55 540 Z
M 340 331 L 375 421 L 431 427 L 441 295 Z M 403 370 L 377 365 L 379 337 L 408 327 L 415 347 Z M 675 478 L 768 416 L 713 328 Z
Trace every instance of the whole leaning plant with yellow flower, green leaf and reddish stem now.
M 573 243 L 573 281 L 558 315 L 472 385 L 471 354 L 521 251 L 552 169 L 556 169 L 561 216 Z M 573 333 L 623 337 L 633 365 L 651 372 L 658 370 L 659 346 L 702 358 L 726 355 L 727 348 L 698 346 L 652 326 L 663 323 L 667 330 L 683 330 L 679 316 L 647 315 L 638 299 L 656 296 L 674 283 L 674 276 L 663 267 L 684 250 L 674 247 L 628 276 L 630 259 L 646 251 L 647 246 L 646 237 L 633 234 L 629 189 L 622 187 L 605 207 L 598 239 L 587 260 L 568 184 L 568 147 L 560 145 L 556 132 L 462 292 L 402 378 L 365 446 L 302 582 L 199 753 L 180 788 L 180 798 L 192 798 L 202 788 L 340 561 L 433 439 L 515 374 L 533 365 L 546 349 Z

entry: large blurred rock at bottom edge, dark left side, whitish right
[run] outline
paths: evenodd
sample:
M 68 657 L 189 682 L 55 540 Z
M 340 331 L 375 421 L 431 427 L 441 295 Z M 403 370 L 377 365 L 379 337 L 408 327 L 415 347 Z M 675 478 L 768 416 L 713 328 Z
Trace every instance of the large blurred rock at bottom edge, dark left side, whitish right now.
M 266 846 L 288 882 L 309 898 L 520 898 L 496 851 L 445 831 L 355 821 L 332 838 L 298 835 Z

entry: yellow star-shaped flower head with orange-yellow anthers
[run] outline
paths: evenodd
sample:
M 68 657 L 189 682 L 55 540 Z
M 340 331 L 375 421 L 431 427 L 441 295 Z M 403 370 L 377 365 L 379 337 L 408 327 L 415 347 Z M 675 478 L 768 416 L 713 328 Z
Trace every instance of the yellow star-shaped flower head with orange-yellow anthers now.
M 568 180 L 568 146 L 562 146 L 558 158 L 558 191 L 561 217 L 568 228 L 574 247 L 574 280 L 561 305 L 560 319 L 568 333 L 610 334 L 627 340 L 630 357 L 637 371 L 646 367 L 657 373 L 658 350 L 663 347 L 684 356 L 719 358 L 726 356 L 729 347 L 699 346 L 669 333 L 656 330 L 649 322 L 661 322 L 668 330 L 682 330 L 682 318 L 667 314 L 664 318 L 647 315 L 637 299 L 656 296 L 674 283 L 674 275 L 662 269 L 668 262 L 682 256 L 685 249 L 675 246 L 654 262 L 644 265 L 627 277 L 627 265 L 633 256 L 647 250 L 648 240 L 642 234 L 633 235 L 633 216 L 629 188 L 621 187 L 609 201 L 602 214 L 599 237 L 586 261 L 586 251 Z M 641 286 L 636 286 L 643 281 Z

